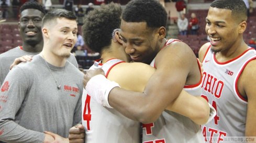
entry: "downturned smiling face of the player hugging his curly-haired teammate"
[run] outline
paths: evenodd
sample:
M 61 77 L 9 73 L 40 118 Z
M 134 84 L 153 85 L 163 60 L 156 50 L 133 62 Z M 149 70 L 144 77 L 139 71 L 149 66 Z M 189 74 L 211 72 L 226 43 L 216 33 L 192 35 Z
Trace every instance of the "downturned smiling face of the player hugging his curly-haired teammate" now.
M 135 62 L 149 64 L 160 51 L 157 30 L 147 28 L 146 22 L 121 21 L 120 37 L 126 54 Z

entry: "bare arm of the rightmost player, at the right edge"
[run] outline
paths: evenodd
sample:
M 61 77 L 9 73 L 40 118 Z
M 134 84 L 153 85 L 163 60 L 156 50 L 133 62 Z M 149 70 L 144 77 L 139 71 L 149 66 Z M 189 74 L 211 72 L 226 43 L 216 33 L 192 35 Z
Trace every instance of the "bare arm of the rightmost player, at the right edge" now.
M 246 136 L 256 136 L 256 60 L 250 61 L 244 68 L 239 81 L 238 90 L 241 95 L 248 98 L 247 118 L 246 118 Z

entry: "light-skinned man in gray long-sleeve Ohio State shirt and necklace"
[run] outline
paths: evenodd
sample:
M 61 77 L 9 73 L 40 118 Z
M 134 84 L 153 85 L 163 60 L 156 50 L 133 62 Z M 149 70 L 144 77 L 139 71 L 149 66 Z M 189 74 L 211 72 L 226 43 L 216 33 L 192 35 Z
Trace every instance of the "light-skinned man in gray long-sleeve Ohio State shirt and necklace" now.
M 73 12 L 56 9 L 42 19 L 43 49 L 6 76 L 0 92 L 0 140 L 51 142 L 81 123 L 83 73 L 66 58 L 76 43 Z M 68 141 L 68 138 L 63 139 Z

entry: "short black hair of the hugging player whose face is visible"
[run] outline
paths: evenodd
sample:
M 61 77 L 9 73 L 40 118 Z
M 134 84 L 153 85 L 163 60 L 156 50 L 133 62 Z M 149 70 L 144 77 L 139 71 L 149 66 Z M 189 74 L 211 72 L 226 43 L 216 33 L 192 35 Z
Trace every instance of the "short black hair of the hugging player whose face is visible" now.
M 146 22 L 149 28 L 166 27 L 167 12 L 156 0 L 132 0 L 123 11 L 126 22 Z

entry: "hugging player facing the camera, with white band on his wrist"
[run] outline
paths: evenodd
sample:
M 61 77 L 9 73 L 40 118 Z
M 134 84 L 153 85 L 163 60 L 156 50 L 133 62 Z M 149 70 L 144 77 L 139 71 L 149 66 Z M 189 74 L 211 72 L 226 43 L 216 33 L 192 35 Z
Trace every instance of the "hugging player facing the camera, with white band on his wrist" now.
M 154 0 L 130 1 L 123 11 L 120 37 L 126 53 L 133 61 L 156 68 L 143 93 L 116 87 L 102 75 L 93 77 L 86 90 L 103 106 L 113 107 L 132 120 L 149 123 L 143 125 L 143 142 L 204 142 L 199 125 L 186 116 L 164 110 L 177 100 L 183 88 L 192 95 L 201 95 L 197 59 L 185 43 L 164 38 L 166 19 L 165 9 Z M 89 71 L 85 82 L 91 75 L 94 74 Z M 209 108 L 202 110 L 209 114 Z

